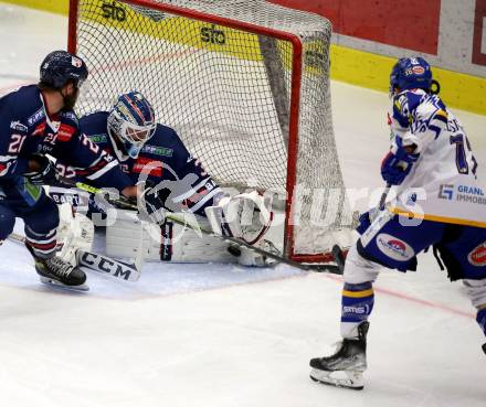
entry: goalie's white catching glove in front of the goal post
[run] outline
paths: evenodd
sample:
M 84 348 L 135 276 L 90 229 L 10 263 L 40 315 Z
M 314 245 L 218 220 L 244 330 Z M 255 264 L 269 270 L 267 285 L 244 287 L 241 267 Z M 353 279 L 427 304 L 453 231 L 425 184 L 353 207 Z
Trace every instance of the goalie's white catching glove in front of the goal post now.
M 235 237 L 254 245 L 272 224 L 271 202 L 257 191 L 224 196 L 204 212 L 216 235 Z

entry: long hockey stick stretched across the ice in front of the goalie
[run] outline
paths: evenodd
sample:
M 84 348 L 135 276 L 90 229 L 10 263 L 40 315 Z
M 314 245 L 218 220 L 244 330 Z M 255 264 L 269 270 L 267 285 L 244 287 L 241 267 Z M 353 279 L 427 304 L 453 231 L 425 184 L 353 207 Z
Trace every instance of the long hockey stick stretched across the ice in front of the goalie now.
M 62 179 L 61 182 L 64 182 L 64 179 Z M 103 190 L 97 189 L 93 185 L 85 184 L 83 182 L 73 182 L 72 180 L 66 180 L 65 183 L 68 185 L 72 185 L 74 188 L 77 188 L 78 190 L 82 190 L 82 191 L 85 191 L 85 192 L 88 192 L 92 194 L 101 194 L 101 193 L 103 194 Z M 125 208 L 138 211 L 138 205 L 125 196 L 119 196 L 117 199 L 108 197 L 107 201 L 112 202 L 113 204 L 120 204 Z M 201 232 L 204 235 L 212 236 L 212 237 L 215 237 L 215 238 L 224 240 L 224 242 L 231 242 L 231 243 L 234 243 L 240 246 L 244 246 L 244 247 L 246 247 L 246 248 L 249 248 L 249 249 L 251 249 L 262 256 L 266 256 L 268 258 L 274 259 L 275 261 L 283 263 L 283 264 L 299 268 L 302 270 L 316 271 L 316 272 L 329 272 L 329 274 L 335 274 L 335 275 L 342 274 L 342 268 L 339 266 L 335 266 L 335 265 L 305 265 L 302 263 L 297 263 L 297 261 L 290 260 L 286 257 L 278 256 L 277 254 L 274 254 L 272 251 L 263 250 L 260 247 L 252 246 L 242 239 L 215 234 L 212 229 L 201 227 L 199 224 L 196 224 L 196 225 L 191 224 L 186 218 L 178 216 L 178 215 L 170 213 L 170 212 L 166 212 L 166 219 L 172 221 L 173 223 L 182 225 L 182 226 L 187 226 L 196 232 Z

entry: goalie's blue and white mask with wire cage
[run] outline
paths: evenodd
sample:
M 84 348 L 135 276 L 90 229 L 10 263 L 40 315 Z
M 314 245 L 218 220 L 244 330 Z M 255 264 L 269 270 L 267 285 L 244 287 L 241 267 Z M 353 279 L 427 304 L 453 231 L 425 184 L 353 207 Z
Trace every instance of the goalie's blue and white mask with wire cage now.
M 118 97 L 109 111 L 107 125 L 110 135 L 122 142 L 126 153 L 134 159 L 157 127 L 154 109 L 139 92 Z

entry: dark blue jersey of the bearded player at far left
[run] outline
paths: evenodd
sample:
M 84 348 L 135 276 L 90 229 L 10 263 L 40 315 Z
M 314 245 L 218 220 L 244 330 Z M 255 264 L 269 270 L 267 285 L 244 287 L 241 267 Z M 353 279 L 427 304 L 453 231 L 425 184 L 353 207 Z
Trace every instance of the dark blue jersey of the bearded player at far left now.
M 0 98 L 0 184 L 28 172 L 33 153 L 62 158 L 95 186 L 131 185 L 114 157 L 80 132 L 74 111 L 49 115 L 42 92 L 30 85 Z

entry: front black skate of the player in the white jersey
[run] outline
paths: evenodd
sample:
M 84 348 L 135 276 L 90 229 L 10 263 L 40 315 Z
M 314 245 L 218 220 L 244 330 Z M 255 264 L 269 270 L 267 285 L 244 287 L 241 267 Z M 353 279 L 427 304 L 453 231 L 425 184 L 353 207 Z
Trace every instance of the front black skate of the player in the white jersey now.
M 362 373 L 367 368 L 368 328 L 369 322 L 361 322 L 357 339 L 344 339 L 334 355 L 310 360 L 310 378 L 323 384 L 361 390 Z

